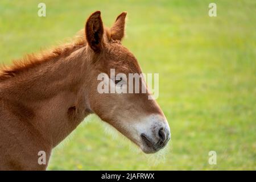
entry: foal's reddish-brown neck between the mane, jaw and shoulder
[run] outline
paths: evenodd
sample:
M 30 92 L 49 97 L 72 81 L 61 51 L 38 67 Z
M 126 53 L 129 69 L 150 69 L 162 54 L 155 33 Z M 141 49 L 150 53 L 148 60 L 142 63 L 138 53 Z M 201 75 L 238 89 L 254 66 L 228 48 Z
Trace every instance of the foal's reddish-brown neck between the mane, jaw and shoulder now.
M 30 118 L 23 117 L 23 122 L 30 122 L 53 147 L 90 113 L 85 51 L 82 47 L 58 60 L 49 60 L 3 86 L 7 102 L 33 113 Z M 20 108 L 16 109 L 18 112 Z

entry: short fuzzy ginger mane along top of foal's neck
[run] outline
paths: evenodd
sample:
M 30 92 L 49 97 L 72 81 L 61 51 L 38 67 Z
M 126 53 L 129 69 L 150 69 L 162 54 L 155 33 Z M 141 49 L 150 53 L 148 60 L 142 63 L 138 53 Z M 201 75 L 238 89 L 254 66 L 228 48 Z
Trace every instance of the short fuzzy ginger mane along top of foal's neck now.
M 49 60 L 58 60 L 61 56 L 68 56 L 73 51 L 86 45 L 84 31 L 80 30 L 77 35 L 72 39 L 71 43 L 65 43 L 61 46 L 42 51 L 40 53 L 31 53 L 23 57 L 23 59 L 13 60 L 13 64 L 6 67 L 1 65 L 0 68 L 0 81 L 14 77 L 19 73 L 34 68 Z

